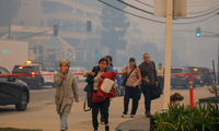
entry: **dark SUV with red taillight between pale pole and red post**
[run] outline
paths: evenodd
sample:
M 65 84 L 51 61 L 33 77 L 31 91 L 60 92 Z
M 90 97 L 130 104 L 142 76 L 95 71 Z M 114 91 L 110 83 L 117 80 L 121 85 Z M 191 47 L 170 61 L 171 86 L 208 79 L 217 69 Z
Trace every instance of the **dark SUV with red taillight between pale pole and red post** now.
M 185 67 L 173 67 L 171 68 L 171 74 L 177 73 L 191 73 L 188 68 Z M 193 76 L 193 87 L 196 86 L 196 81 Z M 171 85 L 173 88 L 176 86 L 183 86 L 184 88 L 189 88 L 189 75 L 178 74 L 178 75 L 171 75 Z

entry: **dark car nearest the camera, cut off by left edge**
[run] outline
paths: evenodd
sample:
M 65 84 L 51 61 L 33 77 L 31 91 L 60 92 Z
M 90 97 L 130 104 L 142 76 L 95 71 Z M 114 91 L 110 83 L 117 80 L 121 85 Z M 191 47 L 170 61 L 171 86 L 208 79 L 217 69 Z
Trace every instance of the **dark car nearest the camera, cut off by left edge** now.
M 0 67 L 0 74 L 10 72 Z M 15 105 L 16 110 L 24 111 L 30 102 L 27 84 L 12 76 L 0 76 L 0 105 Z

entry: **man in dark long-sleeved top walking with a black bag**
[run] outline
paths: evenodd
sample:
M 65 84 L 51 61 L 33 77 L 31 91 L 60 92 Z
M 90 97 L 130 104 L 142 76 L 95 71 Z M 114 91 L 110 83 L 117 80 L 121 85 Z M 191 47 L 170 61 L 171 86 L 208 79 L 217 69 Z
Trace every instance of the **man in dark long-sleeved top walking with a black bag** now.
M 155 64 L 150 61 L 150 56 L 148 53 L 143 55 L 143 62 L 140 63 L 139 69 L 141 72 L 141 88 L 145 96 L 145 109 L 146 117 L 150 117 L 150 106 L 151 106 L 151 88 L 158 86 L 158 76 L 155 71 Z

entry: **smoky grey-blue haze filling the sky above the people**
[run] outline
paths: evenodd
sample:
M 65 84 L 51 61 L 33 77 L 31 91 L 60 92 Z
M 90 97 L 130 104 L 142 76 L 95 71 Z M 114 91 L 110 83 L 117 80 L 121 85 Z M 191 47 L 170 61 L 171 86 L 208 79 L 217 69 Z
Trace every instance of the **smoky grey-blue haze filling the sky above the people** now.
M 165 22 L 165 17 L 153 16 L 117 0 L 102 1 L 141 17 Z M 124 1 L 153 13 L 153 0 Z M 9 25 L 9 3 L 10 0 L 0 0 L 0 27 Z M 87 26 L 59 29 L 58 36 L 74 50 L 84 50 L 84 55 L 77 52 L 72 62 L 92 67 L 101 57 L 111 55 L 114 58 L 114 66 L 124 67 L 128 64 L 130 57 L 135 57 L 137 64 L 140 64 L 142 55 L 148 52 L 157 67 L 160 62 L 164 66 L 165 24 L 124 13 L 97 0 L 12 0 L 11 4 L 12 25 L 53 27 L 53 25 L 85 24 L 87 21 L 92 21 L 91 33 L 85 31 Z M 215 15 L 219 12 L 218 8 L 218 0 L 187 0 L 187 17 L 203 16 L 173 20 L 173 23 L 182 24 L 173 24 L 172 66 L 211 68 L 212 60 L 218 63 L 219 38 L 196 37 L 196 27 L 219 33 L 219 15 Z M 206 14 L 208 12 L 211 13 Z M 185 24 L 191 22 L 194 23 Z M 7 33 L 7 29 L 0 29 L 0 37 Z M 99 53 L 97 57 L 94 56 L 95 51 Z M 58 61 L 53 57 L 47 60 Z

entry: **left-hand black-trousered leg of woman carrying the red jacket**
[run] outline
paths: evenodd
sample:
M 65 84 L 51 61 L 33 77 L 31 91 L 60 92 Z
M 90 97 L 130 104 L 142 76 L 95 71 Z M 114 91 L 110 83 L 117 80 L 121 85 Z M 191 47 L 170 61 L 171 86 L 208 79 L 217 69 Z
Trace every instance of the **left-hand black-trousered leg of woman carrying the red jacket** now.
M 100 108 L 100 104 L 93 104 L 92 122 L 93 122 L 94 130 L 97 130 L 97 128 L 99 128 L 99 121 L 97 121 L 99 108 Z

